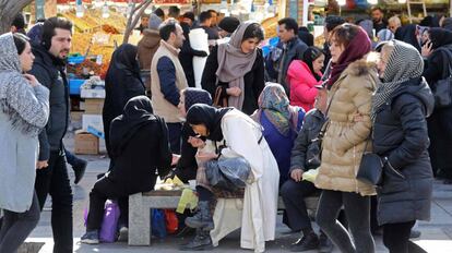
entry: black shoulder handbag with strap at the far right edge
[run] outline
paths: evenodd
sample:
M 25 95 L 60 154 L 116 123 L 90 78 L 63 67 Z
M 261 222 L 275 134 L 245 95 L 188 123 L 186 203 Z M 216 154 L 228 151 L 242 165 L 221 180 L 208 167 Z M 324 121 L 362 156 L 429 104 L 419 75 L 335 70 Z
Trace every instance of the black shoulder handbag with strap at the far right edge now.
M 433 85 L 433 97 L 436 108 L 444 108 L 452 106 L 452 52 L 449 49 L 440 50 L 445 52 L 445 55 L 443 55 L 443 79 L 437 81 L 437 83 Z M 445 65 L 448 65 L 448 68 L 445 68 Z

